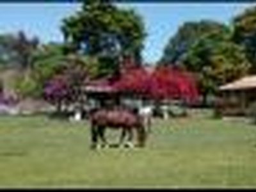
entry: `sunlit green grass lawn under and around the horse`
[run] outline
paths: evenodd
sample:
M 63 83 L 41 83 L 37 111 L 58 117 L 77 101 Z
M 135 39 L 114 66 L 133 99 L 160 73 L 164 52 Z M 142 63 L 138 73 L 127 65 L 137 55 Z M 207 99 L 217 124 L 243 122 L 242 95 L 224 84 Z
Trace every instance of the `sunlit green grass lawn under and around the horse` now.
M 0 187 L 256 186 L 256 125 L 206 115 L 152 129 L 145 148 L 93 151 L 87 122 L 0 116 Z M 108 130 L 109 141 L 119 134 Z

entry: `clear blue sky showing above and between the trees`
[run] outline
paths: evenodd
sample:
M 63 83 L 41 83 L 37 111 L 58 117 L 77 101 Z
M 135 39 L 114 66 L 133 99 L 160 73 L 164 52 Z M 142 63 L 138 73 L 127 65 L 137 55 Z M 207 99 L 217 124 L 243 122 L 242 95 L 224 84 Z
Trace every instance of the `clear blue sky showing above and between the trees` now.
M 170 36 L 182 23 L 212 19 L 228 24 L 232 17 L 252 3 L 121 3 L 134 8 L 144 19 L 147 30 L 143 58 L 147 63 L 159 60 Z M 256 3 L 254 3 L 256 5 Z M 0 33 L 24 30 L 41 42 L 61 42 L 61 19 L 79 10 L 77 3 L 0 3 Z

